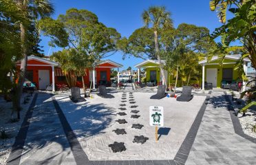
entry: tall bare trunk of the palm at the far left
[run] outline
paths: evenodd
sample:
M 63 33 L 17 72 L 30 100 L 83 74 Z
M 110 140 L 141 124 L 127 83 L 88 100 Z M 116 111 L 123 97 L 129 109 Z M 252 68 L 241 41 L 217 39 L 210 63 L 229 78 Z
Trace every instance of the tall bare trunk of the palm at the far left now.
M 19 76 L 19 82 L 17 90 L 14 91 L 14 102 L 13 108 L 15 111 L 17 111 L 17 118 L 20 119 L 20 110 L 21 110 L 21 95 L 22 95 L 22 89 L 23 89 L 23 83 L 25 80 L 25 73 L 27 71 L 27 61 L 28 61 L 28 46 L 26 44 L 26 30 L 25 26 L 21 23 L 21 44 L 22 44 L 22 59 L 21 59 L 21 69 L 20 69 L 20 76 Z

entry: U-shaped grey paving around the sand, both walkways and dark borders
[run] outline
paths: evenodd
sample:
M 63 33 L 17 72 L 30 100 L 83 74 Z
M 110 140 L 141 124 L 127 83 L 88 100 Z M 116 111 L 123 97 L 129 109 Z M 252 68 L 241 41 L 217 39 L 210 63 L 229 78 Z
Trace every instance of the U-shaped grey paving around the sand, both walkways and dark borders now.
M 8 164 L 256 164 L 256 144 L 235 133 L 223 92 L 213 91 L 176 157 L 163 161 L 88 161 L 52 100 L 50 94 L 38 94 L 32 118 L 28 118 L 28 133 L 17 138 Z

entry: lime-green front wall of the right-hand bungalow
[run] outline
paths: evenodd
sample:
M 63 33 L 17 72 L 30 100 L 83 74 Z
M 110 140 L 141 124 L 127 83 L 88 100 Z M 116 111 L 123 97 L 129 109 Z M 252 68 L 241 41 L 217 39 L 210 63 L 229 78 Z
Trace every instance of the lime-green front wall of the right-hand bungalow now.
M 204 72 L 204 78 L 206 81 L 207 75 L 206 75 L 206 69 L 207 68 L 216 68 L 217 69 L 217 87 L 222 86 L 222 69 L 223 68 L 232 68 L 233 69 L 233 80 L 239 79 L 239 73 L 237 70 L 235 70 L 235 64 L 225 64 L 223 66 L 220 65 L 205 65 L 205 72 Z

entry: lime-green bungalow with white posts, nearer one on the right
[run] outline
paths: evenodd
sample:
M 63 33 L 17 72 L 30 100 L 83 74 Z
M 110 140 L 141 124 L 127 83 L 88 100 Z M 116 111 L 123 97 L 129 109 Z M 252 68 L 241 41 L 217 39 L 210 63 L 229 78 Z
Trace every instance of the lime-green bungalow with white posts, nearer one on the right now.
M 213 56 L 211 61 L 200 61 L 202 65 L 202 89 L 204 89 L 205 82 L 212 83 L 213 87 L 223 88 L 224 85 L 233 82 L 242 81 L 242 74 L 235 70 L 235 63 L 239 60 L 241 55 L 226 55 L 223 64 L 220 65 L 218 56 Z M 250 60 L 244 59 L 244 72 L 247 75 L 247 67 Z M 245 89 L 245 82 L 243 82 L 243 90 Z

